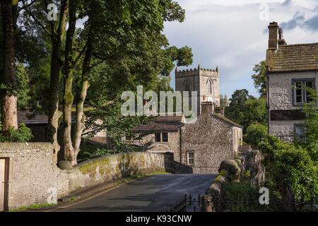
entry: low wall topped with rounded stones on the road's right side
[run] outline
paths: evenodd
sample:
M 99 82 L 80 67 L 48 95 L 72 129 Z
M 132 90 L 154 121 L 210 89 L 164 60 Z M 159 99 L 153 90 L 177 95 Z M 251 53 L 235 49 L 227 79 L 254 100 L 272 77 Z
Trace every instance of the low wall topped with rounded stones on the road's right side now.
M 254 150 L 241 154 L 234 160 L 221 162 L 218 169 L 218 176 L 202 197 L 204 205 L 201 206 L 203 212 L 216 212 L 220 210 L 222 199 L 222 189 L 228 184 L 240 178 L 240 174 L 249 171 L 249 179 L 255 186 L 262 186 L 265 181 L 265 169 L 261 165 L 261 153 Z

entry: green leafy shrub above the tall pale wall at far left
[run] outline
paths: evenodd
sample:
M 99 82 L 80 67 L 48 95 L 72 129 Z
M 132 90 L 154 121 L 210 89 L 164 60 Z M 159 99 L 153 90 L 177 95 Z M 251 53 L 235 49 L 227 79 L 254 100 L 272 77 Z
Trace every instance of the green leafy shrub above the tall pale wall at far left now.
M 28 142 L 33 138 L 31 129 L 20 124 L 18 129 L 10 128 L 5 134 L 1 133 L 0 124 L 0 142 Z

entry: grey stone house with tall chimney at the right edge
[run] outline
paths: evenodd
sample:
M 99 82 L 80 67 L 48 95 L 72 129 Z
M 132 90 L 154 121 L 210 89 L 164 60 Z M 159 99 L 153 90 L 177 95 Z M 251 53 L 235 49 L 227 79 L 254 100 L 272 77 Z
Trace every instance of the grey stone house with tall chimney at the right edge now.
M 304 135 L 302 106 L 311 99 L 302 86 L 318 87 L 318 43 L 287 44 L 278 23 L 269 24 L 266 52 L 269 133 L 293 141 Z

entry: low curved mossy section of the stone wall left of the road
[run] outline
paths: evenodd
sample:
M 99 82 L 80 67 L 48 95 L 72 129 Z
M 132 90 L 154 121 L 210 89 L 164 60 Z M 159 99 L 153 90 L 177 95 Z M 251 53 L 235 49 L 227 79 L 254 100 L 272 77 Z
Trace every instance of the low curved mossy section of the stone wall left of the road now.
M 147 172 L 166 172 L 165 155 L 158 153 L 123 153 L 88 160 L 69 174 L 69 191 L 76 191 L 102 182 Z

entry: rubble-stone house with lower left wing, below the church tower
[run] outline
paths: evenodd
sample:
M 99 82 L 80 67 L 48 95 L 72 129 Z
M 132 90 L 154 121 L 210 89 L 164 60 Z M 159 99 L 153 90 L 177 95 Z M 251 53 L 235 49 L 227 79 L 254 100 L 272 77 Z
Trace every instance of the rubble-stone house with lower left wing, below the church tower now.
M 144 146 L 148 152 L 172 153 L 176 162 L 192 167 L 196 174 L 216 173 L 220 162 L 235 157 L 242 145 L 242 126 L 216 113 L 212 102 L 201 103 L 194 124 L 183 116 L 160 116 L 132 130 L 126 142 Z

